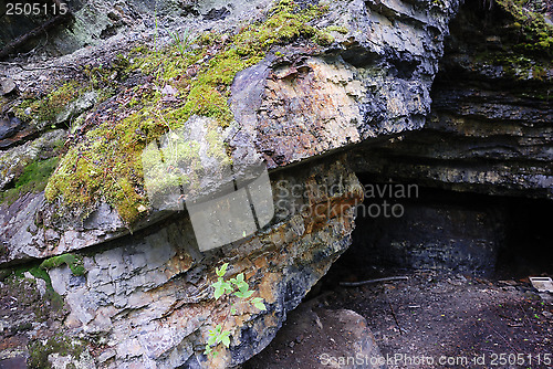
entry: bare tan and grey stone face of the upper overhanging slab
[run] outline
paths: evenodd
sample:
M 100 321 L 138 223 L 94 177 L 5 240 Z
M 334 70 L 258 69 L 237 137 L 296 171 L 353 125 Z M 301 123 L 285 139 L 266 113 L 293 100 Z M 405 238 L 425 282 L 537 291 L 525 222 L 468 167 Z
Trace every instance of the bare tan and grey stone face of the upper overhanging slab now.
M 270 168 L 420 128 L 457 7 L 332 2 L 320 23 L 341 24 L 344 34 L 333 33 L 326 55 L 286 48 L 239 73 L 231 99 L 237 120 Z

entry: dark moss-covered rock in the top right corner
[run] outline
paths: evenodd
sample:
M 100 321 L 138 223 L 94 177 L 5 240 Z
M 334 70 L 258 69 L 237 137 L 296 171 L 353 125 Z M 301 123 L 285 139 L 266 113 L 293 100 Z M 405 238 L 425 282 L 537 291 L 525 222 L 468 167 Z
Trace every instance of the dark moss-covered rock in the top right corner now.
M 467 1 L 470 11 L 461 12 L 451 25 L 452 42 L 462 45 L 455 67 L 493 80 L 521 97 L 551 99 L 553 25 L 540 4 L 499 0 L 489 8 Z

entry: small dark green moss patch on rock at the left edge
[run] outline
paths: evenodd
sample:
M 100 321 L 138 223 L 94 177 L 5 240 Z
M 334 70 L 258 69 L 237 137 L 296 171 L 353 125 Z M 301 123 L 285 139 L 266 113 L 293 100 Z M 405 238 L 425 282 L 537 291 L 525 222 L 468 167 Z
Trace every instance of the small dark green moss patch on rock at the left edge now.
M 46 160 L 35 160 L 23 169 L 23 173 L 18 178 L 14 187 L 0 192 L 0 203 L 11 204 L 23 193 L 38 193 L 44 190 L 46 181 L 54 171 L 59 158 Z

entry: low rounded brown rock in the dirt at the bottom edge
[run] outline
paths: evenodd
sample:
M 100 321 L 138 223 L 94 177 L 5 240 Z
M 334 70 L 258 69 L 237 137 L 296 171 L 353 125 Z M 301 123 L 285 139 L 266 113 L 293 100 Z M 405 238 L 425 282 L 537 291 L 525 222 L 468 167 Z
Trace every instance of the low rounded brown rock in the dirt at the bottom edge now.
M 302 303 L 290 313 L 271 345 L 241 368 L 386 368 L 365 318 L 324 308 L 323 301 Z

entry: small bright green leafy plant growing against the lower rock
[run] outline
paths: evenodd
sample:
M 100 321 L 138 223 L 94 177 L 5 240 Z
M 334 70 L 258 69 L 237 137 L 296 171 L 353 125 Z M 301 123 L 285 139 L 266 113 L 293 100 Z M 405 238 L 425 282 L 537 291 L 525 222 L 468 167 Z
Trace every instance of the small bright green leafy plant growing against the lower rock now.
M 265 304 L 263 303 L 263 298 L 261 297 L 251 297 L 253 295 L 253 291 L 250 289 L 250 286 L 244 281 L 243 273 L 240 273 L 236 276 L 236 278 L 225 280 L 225 274 L 227 273 L 227 266 L 229 263 L 222 264 L 221 267 L 216 267 L 216 274 L 218 275 L 217 282 L 215 282 L 211 286 L 213 286 L 213 297 L 215 299 L 219 299 L 221 297 L 229 298 L 230 296 L 236 296 L 241 298 L 244 302 L 249 302 L 255 308 L 260 310 L 267 310 Z M 237 308 L 233 307 L 232 302 L 230 302 L 230 314 L 236 315 Z M 225 326 L 228 321 L 228 314 L 223 321 L 223 324 L 218 324 L 215 329 L 209 330 L 209 338 L 206 345 L 205 355 L 212 355 L 213 357 L 217 355 L 213 351 L 213 347 L 217 347 L 219 344 L 222 344 L 225 347 L 230 346 L 230 330 L 226 330 Z

